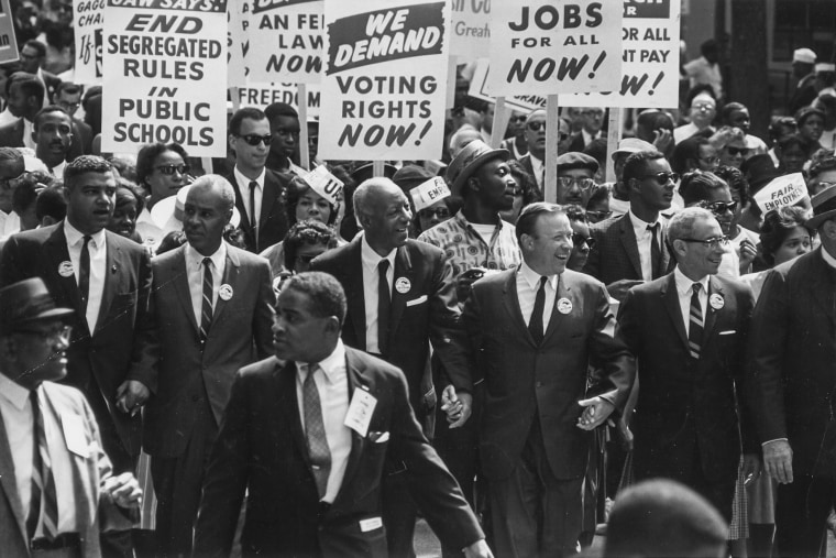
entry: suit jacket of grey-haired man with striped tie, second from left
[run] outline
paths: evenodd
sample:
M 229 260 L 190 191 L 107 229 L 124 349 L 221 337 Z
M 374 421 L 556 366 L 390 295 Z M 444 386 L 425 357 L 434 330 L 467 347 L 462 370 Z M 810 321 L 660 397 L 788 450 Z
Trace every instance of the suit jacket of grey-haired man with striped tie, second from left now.
M 232 297 L 218 297 L 206 343 L 191 308 L 186 247 L 155 258 L 150 330 L 150 375 L 156 391 L 143 417 L 143 447 L 151 456 L 184 452 L 198 413 L 211 408 L 220 424 L 235 372 L 272 352 L 273 309 L 270 267 L 263 258 L 227 247 L 221 284 Z

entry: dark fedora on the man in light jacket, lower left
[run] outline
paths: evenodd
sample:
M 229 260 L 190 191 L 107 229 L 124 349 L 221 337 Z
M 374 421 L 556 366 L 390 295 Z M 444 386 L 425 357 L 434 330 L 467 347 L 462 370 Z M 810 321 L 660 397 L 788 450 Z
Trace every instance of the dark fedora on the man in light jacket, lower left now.
M 20 331 L 38 321 L 63 320 L 73 314 L 70 308 L 55 306 L 41 277 L 0 288 L 0 331 L 3 333 Z

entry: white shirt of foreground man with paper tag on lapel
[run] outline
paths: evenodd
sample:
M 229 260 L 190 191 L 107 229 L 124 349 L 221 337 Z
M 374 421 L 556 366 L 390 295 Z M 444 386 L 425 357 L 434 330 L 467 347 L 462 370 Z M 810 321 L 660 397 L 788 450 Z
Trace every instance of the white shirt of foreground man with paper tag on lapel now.
M 302 385 L 307 378 L 307 364 L 296 365 L 296 401 L 299 402 L 299 418 L 305 431 L 305 403 Z M 337 341 L 333 352 L 318 363 L 314 382 L 319 392 L 319 403 L 322 407 L 322 424 L 326 428 L 328 449 L 331 451 L 331 471 L 328 473 L 328 488 L 322 496 L 324 502 L 333 503 L 342 486 L 345 466 L 351 453 L 351 430 L 343 423 L 349 412 L 349 379 L 345 372 L 345 346 Z

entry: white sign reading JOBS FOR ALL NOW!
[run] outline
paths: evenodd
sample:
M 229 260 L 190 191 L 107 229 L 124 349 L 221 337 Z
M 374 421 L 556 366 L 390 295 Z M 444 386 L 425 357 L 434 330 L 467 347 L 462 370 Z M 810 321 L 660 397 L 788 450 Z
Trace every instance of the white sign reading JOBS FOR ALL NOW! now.
M 612 91 L 622 76 L 622 6 L 593 0 L 492 3 L 494 97 Z

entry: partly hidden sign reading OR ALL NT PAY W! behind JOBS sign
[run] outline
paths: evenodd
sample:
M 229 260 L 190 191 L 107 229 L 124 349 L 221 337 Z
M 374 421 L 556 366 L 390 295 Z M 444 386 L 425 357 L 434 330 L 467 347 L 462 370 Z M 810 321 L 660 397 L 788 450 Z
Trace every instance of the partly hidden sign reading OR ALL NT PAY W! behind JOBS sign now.
M 571 107 L 675 109 L 679 106 L 680 0 L 624 0 L 622 83 L 610 92 L 560 99 Z

